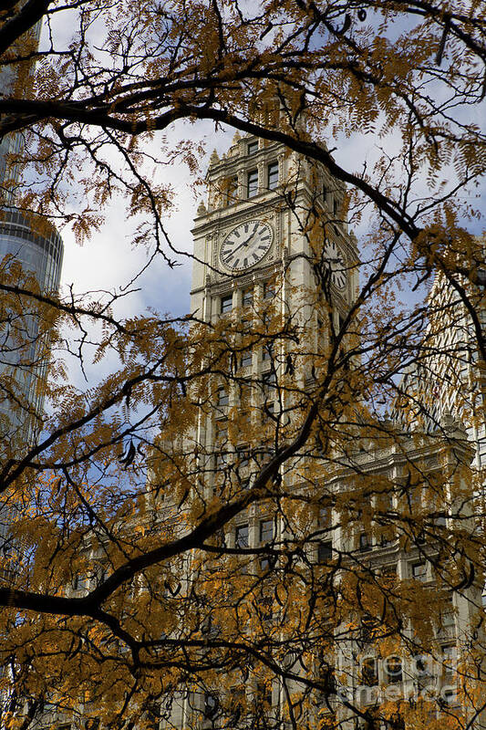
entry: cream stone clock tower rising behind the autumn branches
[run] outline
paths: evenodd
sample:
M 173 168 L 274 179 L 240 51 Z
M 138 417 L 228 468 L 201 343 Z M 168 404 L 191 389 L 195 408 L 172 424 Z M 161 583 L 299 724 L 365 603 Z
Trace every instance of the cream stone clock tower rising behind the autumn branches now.
M 312 354 L 325 353 L 357 296 L 357 244 L 342 213 L 346 189 L 282 144 L 238 132 L 221 159 L 212 152 L 207 183 L 207 205 L 200 204 L 192 229 L 191 313 L 214 326 L 225 318 L 233 328 L 231 377 L 209 401 L 221 400 L 226 412 L 241 409 L 235 391 L 260 382 L 265 411 L 274 412 L 269 387 L 276 400 L 289 369 L 298 388 L 308 385 Z M 271 315 L 274 329 L 265 333 Z M 253 388 L 253 405 L 255 398 Z M 198 442 L 221 458 L 217 430 L 202 423 Z

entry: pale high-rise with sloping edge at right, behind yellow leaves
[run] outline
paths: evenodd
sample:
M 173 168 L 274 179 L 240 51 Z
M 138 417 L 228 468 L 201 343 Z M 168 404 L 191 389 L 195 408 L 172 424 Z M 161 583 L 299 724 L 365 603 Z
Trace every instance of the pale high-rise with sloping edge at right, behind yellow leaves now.
M 477 245 L 483 250 L 480 240 Z M 454 287 L 443 273 L 435 276 L 419 358 L 398 385 L 393 418 L 429 432 L 439 431 L 444 414 L 460 418 L 475 449 L 473 465 L 484 470 L 486 366 L 478 343 L 486 326 L 486 278 L 480 269 L 472 279 L 459 275 Z

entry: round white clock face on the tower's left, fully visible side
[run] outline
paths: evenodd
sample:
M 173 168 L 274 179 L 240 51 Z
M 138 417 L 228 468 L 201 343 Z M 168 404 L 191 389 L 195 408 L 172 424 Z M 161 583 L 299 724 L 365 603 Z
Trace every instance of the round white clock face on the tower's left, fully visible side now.
M 238 271 L 258 264 L 268 253 L 273 239 L 272 228 L 262 221 L 246 221 L 237 225 L 222 242 L 222 265 Z

